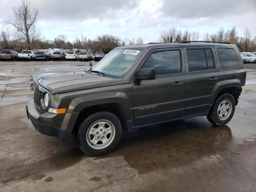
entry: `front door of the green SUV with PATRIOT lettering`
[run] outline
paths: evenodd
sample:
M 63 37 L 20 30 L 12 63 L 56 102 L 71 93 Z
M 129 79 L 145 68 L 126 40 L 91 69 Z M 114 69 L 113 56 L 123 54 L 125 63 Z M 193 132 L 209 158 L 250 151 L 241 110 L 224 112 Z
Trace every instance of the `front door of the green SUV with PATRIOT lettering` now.
M 141 68 L 155 68 L 156 79 L 132 83 L 135 124 L 184 116 L 187 83 L 183 49 L 153 50 Z

